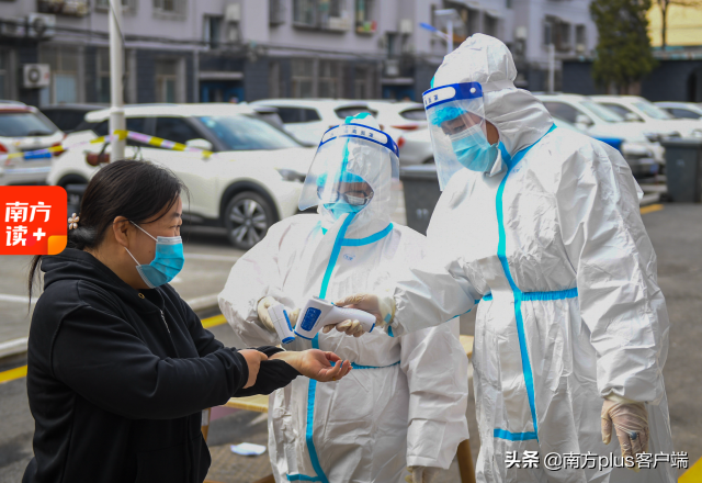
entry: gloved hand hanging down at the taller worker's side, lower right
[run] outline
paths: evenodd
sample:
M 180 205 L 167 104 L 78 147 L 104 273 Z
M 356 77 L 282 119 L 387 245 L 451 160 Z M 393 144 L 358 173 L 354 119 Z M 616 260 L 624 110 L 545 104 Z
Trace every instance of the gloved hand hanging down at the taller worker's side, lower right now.
M 618 396 L 608 396 L 602 404 L 602 442 L 612 440 L 612 426 L 616 429 L 616 438 L 622 449 L 622 458 L 631 457 L 636 462 L 636 454 L 648 449 L 648 412 L 644 403 L 635 403 Z M 638 465 L 627 465 L 638 472 Z

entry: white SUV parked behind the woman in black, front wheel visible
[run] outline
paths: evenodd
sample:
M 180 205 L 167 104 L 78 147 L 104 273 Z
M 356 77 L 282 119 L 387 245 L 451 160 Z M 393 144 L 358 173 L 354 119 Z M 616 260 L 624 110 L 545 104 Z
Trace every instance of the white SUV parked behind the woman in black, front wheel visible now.
M 158 162 L 188 187 L 184 212 L 199 224 L 224 226 L 237 248 L 256 245 L 279 220 L 297 213 L 314 149 L 257 119 L 250 106 L 229 103 L 150 104 L 125 108 L 128 131 L 215 151 L 174 151 L 129 141 L 126 157 Z M 110 110 L 90 112 L 68 144 L 107 134 Z M 109 161 L 110 145 L 84 145 L 56 159 L 49 184 L 86 183 Z

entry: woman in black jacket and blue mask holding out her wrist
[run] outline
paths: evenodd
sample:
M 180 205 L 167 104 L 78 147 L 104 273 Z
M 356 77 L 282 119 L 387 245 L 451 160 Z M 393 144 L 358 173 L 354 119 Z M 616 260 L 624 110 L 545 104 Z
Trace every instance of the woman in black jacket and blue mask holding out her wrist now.
M 303 374 L 350 370 L 331 352 L 226 348 L 167 282 L 183 265 L 181 181 L 116 161 L 90 181 L 68 248 L 35 257 L 27 393 L 35 420 L 26 483 L 201 483 L 201 412 L 269 394 Z M 156 243 L 155 243 L 156 240 Z M 335 366 L 331 366 L 331 363 Z

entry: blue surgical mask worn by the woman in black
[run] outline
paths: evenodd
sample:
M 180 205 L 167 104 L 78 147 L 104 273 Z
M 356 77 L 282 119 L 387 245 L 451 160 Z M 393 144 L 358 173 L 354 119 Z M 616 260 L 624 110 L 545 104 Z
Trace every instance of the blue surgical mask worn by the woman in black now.
M 183 265 L 185 265 L 182 238 L 180 236 L 159 236 L 158 238 L 154 238 L 136 223 L 131 223 L 146 233 L 151 239 L 156 240 L 156 256 L 149 265 L 139 265 L 137 259 L 134 258 L 134 255 L 124 247 L 127 254 L 129 254 L 129 257 L 136 261 L 136 270 L 139 272 L 144 283 L 155 289 L 173 280 L 183 269 Z

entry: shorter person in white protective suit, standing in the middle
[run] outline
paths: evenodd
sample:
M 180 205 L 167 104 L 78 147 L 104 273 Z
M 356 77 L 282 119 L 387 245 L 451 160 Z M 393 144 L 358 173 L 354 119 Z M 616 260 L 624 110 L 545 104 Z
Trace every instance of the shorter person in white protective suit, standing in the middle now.
M 349 117 L 325 134 L 299 199 L 301 210 L 318 204 L 318 215 L 273 225 L 237 261 L 219 294 L 245 344 L 280 342 L 267 311 L 276 301 L 294 325 L 312 296 L 333 301 L 378 290 L 423 256 L 424 237 L 390 223 L 397 181 L 397 146 L 373 117 Z M 340 327 L 346 334 L 328 328 L 283 347 L 333 350 L 353 370 L 329 384 L 297 378 L 271 396 L 275 481 L 430 483 L 468 438 L 457 319 L 403 337 L 381 330 L 349 337 L 361 334 L 358 321 Z

